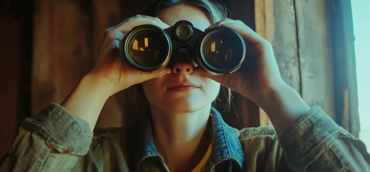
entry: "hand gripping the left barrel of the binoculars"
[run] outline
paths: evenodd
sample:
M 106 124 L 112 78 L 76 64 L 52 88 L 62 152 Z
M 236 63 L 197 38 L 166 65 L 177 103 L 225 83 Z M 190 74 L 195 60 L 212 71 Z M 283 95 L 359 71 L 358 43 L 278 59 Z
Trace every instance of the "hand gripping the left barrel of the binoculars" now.
M 129 86 L 171 73 L 169 67 L 153 73 L 138 72 L 125 60 L 120 59 L 120 41 L 131 29 L 146 24 L 154 25 L 161 29 L 169 28 L 167 24 L 156 17 L 136 15 L 107 29 L 104 34 L 95 65 L 88 75 L 97 76 L 99 80 L 102 80 L 111 89 L 111 95 Z

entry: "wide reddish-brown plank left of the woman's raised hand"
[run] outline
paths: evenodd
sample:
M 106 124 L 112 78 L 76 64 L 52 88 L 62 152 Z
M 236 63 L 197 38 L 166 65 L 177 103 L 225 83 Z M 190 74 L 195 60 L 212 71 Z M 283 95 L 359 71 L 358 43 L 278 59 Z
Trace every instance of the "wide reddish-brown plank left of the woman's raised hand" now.
M 91 42 L 88 1 L 35 1 L 33 114 L 61 103 L 92 68 Z

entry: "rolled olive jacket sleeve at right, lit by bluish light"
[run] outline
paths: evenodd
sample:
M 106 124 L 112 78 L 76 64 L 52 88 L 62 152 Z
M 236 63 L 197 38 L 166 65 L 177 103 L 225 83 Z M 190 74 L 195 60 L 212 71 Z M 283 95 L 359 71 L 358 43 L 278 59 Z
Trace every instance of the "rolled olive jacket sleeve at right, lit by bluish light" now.
M 287 164 L 295 172 L 370 172 L 365 144 L 318 106 L 300 117 L 280 142 Z

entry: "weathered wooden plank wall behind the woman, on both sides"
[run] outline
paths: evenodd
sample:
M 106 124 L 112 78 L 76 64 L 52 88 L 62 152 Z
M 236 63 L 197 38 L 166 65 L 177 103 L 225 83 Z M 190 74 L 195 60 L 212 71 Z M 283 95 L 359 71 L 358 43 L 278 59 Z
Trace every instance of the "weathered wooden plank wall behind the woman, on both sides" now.
M 87 74 L 105 29 L 142 13 L 149 1 L 5 0 L 0 3 L 0 23 L 8 26 L 0 27 L 3 34 L 0 79 L 4 83 L 0 85 L 0 155 L 9 148 L 16 123 L 50 102 L 61 103 Z M 333 63 L 331 1 L 224 0 L 231 19 L 243 21 L 272 43 L 284 81 L 310 106 L 320 105 L 336 119 L 334 83 L 341 80 L 334 75 L 338 70 L 333 65 L 338 62 Z M 227 111 L 224 92 L 221 88 L 217 109 L 231 126 L 240 129 L 270 125 L 255 103 L 237 93 L 233 94 L 233 106 Z M 138 108 L 136 115 L 129 94 L 127 89 L 108 99 L 98 127 L 119 127 L 147 111 Z

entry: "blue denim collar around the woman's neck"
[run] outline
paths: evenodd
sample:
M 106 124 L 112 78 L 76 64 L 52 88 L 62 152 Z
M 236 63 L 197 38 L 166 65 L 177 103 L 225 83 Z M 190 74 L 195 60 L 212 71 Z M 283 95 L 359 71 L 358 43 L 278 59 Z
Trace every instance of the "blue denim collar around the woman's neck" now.
M 234 129 L 223 121 L 221 114 L 214 107 L 211 107 L 210 113 L 212 115 L 212 153 L 207 162 L 206 171 L 210 171 L 226 160 L 235 161 L 242 169 L 244 152 Z M 135 129 L 132 130 L 129 149 L 132 152 L 130 155 L 133 156 L 134 171 L 139 171 L 138 168 L 150 157 L 159 160 L 167 168 L 155 148 L 151 126 L 151 120 L 148 117 L 135 124 Z

